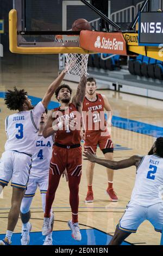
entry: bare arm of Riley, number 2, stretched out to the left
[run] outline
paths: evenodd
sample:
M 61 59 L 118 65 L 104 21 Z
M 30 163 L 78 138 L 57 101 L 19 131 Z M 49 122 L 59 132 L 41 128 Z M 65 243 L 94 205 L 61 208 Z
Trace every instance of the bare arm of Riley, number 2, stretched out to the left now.
M 98 163 L 101 164 L 102 166 L 105 166 L 107 168 L 110 169 L 123 169 L 123 168 L 127 168 L 130 166 L 137 166 L 142 157 L 141 156 L 131 156 L 129 159 L 125 159 L 122 161 L 111 161 L 111 160 L 103 160 L 103 159 L 99 159 L 96 155 L 93 155 L 90 151 L 84 151 L 83 156 L 86 157 L 86 159 L 84 160 L 89 160 L 90 162 L 93 163 Z

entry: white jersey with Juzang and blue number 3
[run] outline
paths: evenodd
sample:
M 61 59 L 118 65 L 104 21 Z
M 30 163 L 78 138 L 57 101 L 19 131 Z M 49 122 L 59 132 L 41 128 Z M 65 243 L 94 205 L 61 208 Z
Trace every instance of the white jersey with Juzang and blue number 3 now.
M 40 101 L 32 110 L 20 111 L 6 118 L 5 131 L 8 139 L 5 143 L 5 150 L 33 155 L 38 126 L 44 111 L 45 107 Z

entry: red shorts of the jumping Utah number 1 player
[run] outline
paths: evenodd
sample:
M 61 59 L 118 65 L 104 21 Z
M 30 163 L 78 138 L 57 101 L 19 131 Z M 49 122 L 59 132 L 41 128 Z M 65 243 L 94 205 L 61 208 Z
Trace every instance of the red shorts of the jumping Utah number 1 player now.
M 53 146 L 50 173 L 61 175 L 64 170 L 71 176 L 82 175 L 82 146 L 73 149 Z

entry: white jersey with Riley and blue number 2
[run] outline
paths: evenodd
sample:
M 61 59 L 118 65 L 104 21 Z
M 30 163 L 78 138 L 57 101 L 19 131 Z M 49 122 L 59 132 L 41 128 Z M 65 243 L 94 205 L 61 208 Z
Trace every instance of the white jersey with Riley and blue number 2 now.
M 131 200 L 142 206 L 162 202 L 159 187 L 163 185 L 163 159 L 156 155 L 144 156 L 136 170 Z

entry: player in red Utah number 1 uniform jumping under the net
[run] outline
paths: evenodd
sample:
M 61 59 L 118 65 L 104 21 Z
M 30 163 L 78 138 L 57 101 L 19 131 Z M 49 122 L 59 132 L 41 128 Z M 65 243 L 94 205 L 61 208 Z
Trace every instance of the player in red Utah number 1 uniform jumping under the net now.
M 77 241 L 82 239 L 78 225 L 78 206 L 79 183 L 82 175 L 80 130 L 85 87 L 86 77 L 83 76 L 72 102 L 70 102 L 72 89 L 67 84 L 58 87 L 55 95 L 60 102 L 60 107 L 53 109 L 48 115 L 48 120 L 43 131 L 45 138 L 55 134 L 55 143 L 49 167 L 49 187 L 46 194 L 42 234 L 48 235 L 52 230 L 54 217 L 51 214 L 51 207 L 60 177 L 66 169 L 72 210 L 72 221 L 68 221 L 68 227 L 72 230 L 72 237 Z

